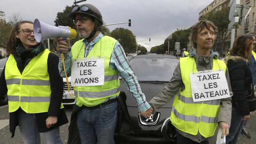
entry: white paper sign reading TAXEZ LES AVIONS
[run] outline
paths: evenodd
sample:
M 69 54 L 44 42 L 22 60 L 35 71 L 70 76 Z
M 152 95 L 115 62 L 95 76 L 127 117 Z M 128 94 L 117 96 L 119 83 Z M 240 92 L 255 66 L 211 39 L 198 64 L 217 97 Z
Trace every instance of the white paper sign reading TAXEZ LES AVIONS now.
M 71 85 L 74 87 L 104 84 L 104 58 L 72 61 Z

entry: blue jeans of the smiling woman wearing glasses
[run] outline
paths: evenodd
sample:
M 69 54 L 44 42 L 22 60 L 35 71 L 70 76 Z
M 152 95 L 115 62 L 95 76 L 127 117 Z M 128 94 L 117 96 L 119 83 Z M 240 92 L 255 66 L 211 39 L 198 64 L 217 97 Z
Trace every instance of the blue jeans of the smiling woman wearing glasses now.
M 19 113 L 18 124 L 25 144 L 41 144 L 35 114 Z M 48 132 L 43 132 L 43 135 L 47 144 L 63 144 L 59 127 Z

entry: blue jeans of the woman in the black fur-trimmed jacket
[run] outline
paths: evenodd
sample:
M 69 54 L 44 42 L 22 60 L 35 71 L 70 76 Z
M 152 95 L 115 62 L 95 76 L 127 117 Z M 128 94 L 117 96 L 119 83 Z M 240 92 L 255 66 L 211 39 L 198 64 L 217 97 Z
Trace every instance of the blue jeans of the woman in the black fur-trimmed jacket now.
M 232 105 L 231 125 L 229 135 L 226 137 L 226 144 L 236 144 L 245 121 L 241 119 L 236 106 Z

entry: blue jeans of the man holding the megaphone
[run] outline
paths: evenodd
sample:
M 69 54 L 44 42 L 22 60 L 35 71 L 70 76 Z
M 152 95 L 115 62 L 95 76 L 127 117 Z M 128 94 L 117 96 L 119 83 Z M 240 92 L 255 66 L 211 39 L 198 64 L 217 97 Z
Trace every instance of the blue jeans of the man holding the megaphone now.
M 117 104 L 97 109 L 83 108 L 77 113 L 77 128 L 81 144 L 115 144 Z

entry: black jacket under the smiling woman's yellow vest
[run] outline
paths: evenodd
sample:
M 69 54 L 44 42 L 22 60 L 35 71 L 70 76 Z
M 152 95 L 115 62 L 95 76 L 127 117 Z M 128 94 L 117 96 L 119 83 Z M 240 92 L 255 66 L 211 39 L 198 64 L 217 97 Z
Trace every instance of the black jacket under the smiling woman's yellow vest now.
M 48 60 L 47 60 L 47 68 L 48 73 L 50 77 L 50 83 L 51 83 L 51 101 L 49 105 L 48 112 L 43 113 L 36 113 L 36 122 L 37 127 L 39 129 L 39 132 L 47 132 L 50 131 L 56 127 L 59 127 L 63 124 L 68 123 L 68 119 L 65 113 L 64 108 L 60 109 L 62 97 L 63 97 L 63 78 L 59 75 L 59 57 L 55 55 L 54 53 L 49 53 Z M 0 99 L 3 98 L 5 94 L 7 94 L 7 85 L 5 81 L 5 66 L 3 69 L 3 72 L 0 76 Z M 12 137 L 15 133 L 15 128 L 18 125 L 18 113 L 19 110 L 15 112 L 10 113 L 10 132 L 12 133 Z M 57 124 L 53 125 L 51 128 L 47 128 L 45 124 L 45 120 L 48 118 L 48 116 L 58 116 Z

